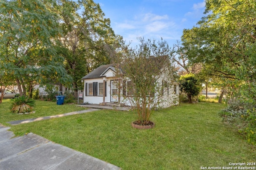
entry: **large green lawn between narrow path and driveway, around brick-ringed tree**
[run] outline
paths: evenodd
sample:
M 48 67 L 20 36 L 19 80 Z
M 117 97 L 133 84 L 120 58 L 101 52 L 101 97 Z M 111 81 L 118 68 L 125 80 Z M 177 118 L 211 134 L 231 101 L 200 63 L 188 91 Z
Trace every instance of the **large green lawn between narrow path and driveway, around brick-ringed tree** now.
M 15 125 L 10 130 L 16 135 L 36 133 L 124 170 L 199 170 L 255 162 L 256 147 L 218 116 L 223 107 L 199 103 L 162 109 L 152 115 L 156 126 L 148 130 L 131 127 L 136 114 L 113 110 Z

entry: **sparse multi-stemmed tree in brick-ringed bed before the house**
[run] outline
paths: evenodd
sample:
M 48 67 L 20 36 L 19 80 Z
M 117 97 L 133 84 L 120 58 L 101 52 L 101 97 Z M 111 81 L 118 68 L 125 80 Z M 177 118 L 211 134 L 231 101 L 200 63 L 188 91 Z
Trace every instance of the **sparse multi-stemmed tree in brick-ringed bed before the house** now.
M 138 38 L 140 45 L 131 48 L 123 61 L 117 66 L 116 76 L 123 89 L 126 100 L 138 113 L 138 125 L 152 125 L 152 109 L 164 102 L 164 82 L 172 81 L 169 56 L 171 49 L 166 41 L 145 41 Z M 125 86 L 126 85 L 126 86 Z

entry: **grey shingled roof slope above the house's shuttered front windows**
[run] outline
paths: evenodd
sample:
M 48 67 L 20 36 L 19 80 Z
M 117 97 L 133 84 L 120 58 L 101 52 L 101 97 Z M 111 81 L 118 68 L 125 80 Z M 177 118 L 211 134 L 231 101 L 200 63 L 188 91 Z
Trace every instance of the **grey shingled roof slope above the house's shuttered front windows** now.
M 101 78 L 109 69 L 114 70 L 114 64 L 99 66 L 98 68 L 94 69 L 92 72 L 84 76 L 82 79 Z

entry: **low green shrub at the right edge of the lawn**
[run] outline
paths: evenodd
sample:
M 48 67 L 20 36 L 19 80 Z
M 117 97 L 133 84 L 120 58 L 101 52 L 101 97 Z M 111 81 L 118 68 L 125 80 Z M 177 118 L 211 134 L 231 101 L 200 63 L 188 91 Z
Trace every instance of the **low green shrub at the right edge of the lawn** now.
M 219 114 L 224 121 L 235 125 L 238 132 L 244 134 L 248 143 L 256 144 L 256 111 L 255 104 L 235 100 L 222 109 Z

